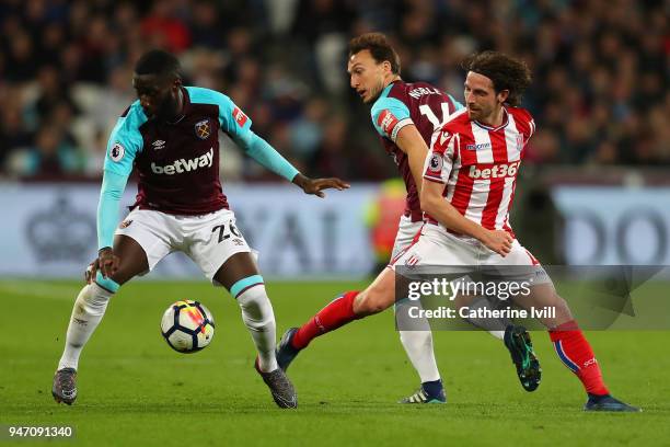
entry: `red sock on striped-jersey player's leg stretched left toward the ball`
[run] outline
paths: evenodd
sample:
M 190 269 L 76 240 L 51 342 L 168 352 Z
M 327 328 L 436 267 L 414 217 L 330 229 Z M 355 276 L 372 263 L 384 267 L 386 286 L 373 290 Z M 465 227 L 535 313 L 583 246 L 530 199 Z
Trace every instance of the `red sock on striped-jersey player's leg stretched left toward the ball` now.
M 331 301 L 326 307 L 321 309 L 319 313 L 311 318 L 310 321 L 300 326 L 291 340 L 291 345 L 298 349 L 302 349 L 319 335 L 323 335 L 354 320 L 358 320 L 359 317 L 354 313 L 354 299 L 358 294 L 358 291 L 347 291 Z

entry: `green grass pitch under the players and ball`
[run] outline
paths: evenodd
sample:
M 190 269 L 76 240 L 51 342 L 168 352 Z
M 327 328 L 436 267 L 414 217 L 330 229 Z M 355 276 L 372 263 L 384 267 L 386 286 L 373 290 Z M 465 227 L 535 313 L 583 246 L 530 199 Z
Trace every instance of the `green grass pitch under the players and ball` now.
M 279 334 L 361 286 L 269 283 Z M 72 425 L 76 439 L 59 444 L 91 446 L 670 445 L 670 332 L 587 334 L 613 394 L 640 414 L 585 414 L 579 381 L 542 332 L 533 332 L 544 374 L 533 393 L 488 334 L 436 333 L 448 404 L 414 406 L 395 403 L 418 378 L 386 311 L 302 353 L 289 369 L 299 410 L 282 411 L 252 368 L 236 303 L 205 282 L 124 286 L 83 352 L 78 401 L 57 405 L 51 378 L 80 287 L 0 282 L 0 424 Z M 215 314 L 207 349 L 181 355 L 162 340 L 161 314 L 177 299 L 200 300 Z

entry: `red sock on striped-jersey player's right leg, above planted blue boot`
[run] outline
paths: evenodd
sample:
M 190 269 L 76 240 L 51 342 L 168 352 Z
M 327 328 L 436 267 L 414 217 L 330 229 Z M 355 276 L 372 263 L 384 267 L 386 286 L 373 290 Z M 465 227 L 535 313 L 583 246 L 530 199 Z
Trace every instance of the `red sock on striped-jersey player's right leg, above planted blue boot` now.
M 584 337 L 575 320 L 568 321 L 550 331 L 556 354 L 561 362 L 577 375 L 590 394 L 609 394 L 602 380 L 602 373 L 596 360 L 591 345 Z

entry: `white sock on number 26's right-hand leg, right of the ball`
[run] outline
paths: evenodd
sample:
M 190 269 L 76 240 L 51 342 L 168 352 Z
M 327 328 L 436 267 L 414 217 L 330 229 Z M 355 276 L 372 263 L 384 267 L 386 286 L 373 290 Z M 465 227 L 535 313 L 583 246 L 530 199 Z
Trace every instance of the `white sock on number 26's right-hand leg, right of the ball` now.
M 277 369 L 275 356 L 276 324 L 273 305 L 263 284 L 253 286 L 238 295 L 242 309 L 242 321 L 246 324 L 258 352 L 258 367 L 264 373 Z

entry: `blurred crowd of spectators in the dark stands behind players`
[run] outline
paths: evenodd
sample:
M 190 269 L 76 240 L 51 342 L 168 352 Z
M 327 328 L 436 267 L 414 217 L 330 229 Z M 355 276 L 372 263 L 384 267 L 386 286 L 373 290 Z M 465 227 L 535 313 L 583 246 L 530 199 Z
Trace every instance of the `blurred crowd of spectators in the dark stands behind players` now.
M 135 101 L 147 49 L 175 53 L 186 84 L 222 91 L 254 130 L 312 175 L 395 175 L 369 105 L 349 88 L 347 43 L 380 31 L 402 77 L 462 101 L 466 55 L 523 58 L 538 131 L 525 161 L 670 164 L 669 4 L 663 0 L 3 0 L 0 177 L 100 179 Z M 222 137 L 222 139 L 226 139 Z M 224 180 L 273 180 L 224 142 Z

